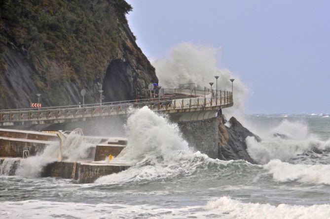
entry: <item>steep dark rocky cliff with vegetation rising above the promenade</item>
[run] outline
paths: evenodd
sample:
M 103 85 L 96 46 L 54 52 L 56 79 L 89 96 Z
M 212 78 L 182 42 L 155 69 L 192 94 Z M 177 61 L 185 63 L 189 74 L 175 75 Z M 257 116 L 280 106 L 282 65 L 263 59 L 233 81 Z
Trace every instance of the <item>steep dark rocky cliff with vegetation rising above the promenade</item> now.
M 124 0 L 0 2 L 0 109 L 135 99 L 158 82 Z

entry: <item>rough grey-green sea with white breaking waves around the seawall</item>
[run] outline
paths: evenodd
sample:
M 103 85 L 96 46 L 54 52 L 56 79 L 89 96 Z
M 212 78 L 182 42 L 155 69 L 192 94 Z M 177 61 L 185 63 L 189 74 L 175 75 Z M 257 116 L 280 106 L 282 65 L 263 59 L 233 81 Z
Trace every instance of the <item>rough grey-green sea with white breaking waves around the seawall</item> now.
M 8 159 L 0 166 L 0 218 L 330 218 L 329 114 L 254 114 L 239 120 L 261 138 L 246 139 L 258 164 L 196 151 L 178 125 L 147 108 L 129 117 L 128 146 L 110 161 L 132 167 L 94 183 L 38 177 L 49 151 L 28 158 L 15 176 L 8 176 Z M 81 155 L 86 148 L 79 149 Z

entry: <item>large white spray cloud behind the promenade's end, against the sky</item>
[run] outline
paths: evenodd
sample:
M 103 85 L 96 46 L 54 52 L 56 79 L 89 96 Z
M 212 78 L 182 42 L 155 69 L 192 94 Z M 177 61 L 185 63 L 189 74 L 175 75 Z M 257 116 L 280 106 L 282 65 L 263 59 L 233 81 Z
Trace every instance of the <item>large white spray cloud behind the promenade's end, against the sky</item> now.
M 168 57 L 152 60 L 156 68 L 159 84 L 164 88 L 177 88 L 180 83 L 196 83 L 199 90 L 214 82 L 215 75 L 219 76 L 218 90 L 231 91 L 230 78 L 234 81 L 234 108 L 243 108 L 243 100 L 249 89 L 242 84 L 240 79 L 226 68 L 217 66 L 216 55 L 220 48 L 181 43 L 170 51 Z

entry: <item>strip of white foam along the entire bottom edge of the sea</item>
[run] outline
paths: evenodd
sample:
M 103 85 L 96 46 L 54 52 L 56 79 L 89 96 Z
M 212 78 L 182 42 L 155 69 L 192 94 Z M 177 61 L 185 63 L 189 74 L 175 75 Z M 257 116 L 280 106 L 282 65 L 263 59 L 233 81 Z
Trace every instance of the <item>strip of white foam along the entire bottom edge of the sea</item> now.
M 243 203 L 230 197 L 210 200 L 205 206 L 164 208 L 157 205 L 86 204 L 26 200 L 2 202 L 0 217 L 19 218 L 224 218 L 224 219 L 314 219 L 329 218 L 330 205 L 270 205 Z

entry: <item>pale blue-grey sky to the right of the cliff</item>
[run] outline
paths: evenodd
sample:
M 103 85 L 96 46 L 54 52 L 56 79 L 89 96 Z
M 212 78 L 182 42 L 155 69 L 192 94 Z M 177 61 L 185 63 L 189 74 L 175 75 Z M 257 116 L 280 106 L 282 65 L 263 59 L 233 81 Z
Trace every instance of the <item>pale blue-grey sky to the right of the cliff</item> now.
M 128 0 L 150 59 L 191 42 L 253 92 L 246 113 L 330 113 L 329 0 Z

